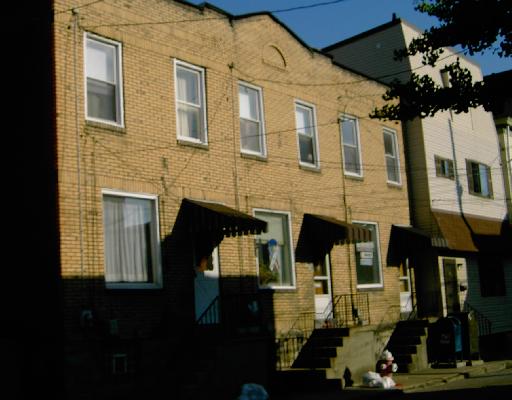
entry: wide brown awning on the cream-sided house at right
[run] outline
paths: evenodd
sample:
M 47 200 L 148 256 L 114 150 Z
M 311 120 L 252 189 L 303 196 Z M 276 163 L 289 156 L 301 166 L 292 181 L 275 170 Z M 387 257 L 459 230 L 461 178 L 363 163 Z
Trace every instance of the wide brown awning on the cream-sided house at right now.
M 510 252 L 512 233 L 506 220 L 435 211 L 440 235 L 432 245 L 457 251 Z

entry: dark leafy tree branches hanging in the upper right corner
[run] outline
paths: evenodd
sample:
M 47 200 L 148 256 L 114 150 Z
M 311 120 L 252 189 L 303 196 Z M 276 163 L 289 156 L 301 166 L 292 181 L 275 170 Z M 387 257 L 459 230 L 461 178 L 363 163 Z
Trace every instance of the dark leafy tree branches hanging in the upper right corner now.
M 491 51 L 497 57 L 512 57 L 512 0 L 422 0 L 415 8 L 437 17 L 440 24 L 396 51 L 397 59 L 421 54 L 424 65 L 435 66 L 444 48 L 455 46 L 470 55 Z M 393 81 L 384 99 L 395 102 L 375 109 L 371 117 L 410 120 L 448 109 L 455 113 L 477 106 L 490 110 L 491 91 L 483 82 L 474 82 L 458 59 L 444 71 L 448 86 L 416 73 L 408 82 Z

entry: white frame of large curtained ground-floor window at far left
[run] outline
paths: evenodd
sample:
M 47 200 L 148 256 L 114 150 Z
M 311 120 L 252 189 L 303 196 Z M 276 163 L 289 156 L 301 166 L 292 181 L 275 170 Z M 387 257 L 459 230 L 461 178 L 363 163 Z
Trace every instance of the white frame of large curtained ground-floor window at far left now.
M 119 190 L 103 189 L 101 191 L 102 213 L 104 196 L 130 197 L 134 199 L 144 199 L 153 202 L 155 207 L 155 243 L 153 244 L 152 254 L 154 256 L 153 282 L 105 282 L 107 289 L 161 289 L 162 288 L 162 257 L 161 257 L 161 238 L 160 238 L 160 218 L 158 210 L 158 196 L 143 193 L 124 192 Z M 102 214 L 102 224 L 104 223 Z M 103 235 L 105 231 L 103 230 Z M 105 246 L 105 236 L 103 236 L 103 245 Z M 105 254 L 105 252 L 103 253 Z M 106 258 L 104 258 L 104 268 L 106 271 Z

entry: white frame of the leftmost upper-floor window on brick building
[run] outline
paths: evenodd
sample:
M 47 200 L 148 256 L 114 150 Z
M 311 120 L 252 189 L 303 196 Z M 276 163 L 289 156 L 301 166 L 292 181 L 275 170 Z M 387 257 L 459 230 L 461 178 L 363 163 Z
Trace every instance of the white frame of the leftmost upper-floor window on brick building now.
M 115 85 L 115 100 L 116 100 L 116 115 L 115 121 L 89 116 L 88 98 L 87 98 L 87 41 L 92 40 L 107 46 L 113 46 L 116 49 L 115 60 L 115 82 L 109 82 Z M 84 90 L 85 90 L 85 118 L 87 121 L 100 122 L 103 124 L 114 125 L 116 127 L 124 128 L 124 100 L 123 100 L 123 50 L 120 42 L 106 39 L 102 36 L 95 35 L 90 32 L 84 33 Z

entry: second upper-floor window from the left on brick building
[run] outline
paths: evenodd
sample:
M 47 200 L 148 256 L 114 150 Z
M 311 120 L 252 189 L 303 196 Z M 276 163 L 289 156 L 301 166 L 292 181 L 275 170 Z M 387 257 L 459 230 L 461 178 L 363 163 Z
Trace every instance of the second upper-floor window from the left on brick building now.
M 175 62 L 178 138 L 207 143 L 204 69 Z

